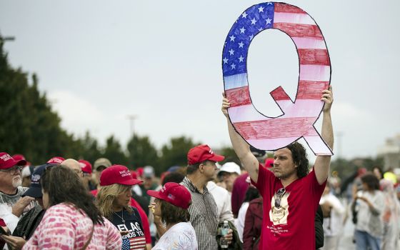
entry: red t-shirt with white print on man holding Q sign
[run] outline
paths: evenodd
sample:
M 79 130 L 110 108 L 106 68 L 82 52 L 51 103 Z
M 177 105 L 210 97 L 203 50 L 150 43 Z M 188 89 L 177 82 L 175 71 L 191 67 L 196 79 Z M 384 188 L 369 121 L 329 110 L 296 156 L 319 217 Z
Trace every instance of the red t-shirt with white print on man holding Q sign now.
M 275 194 L 284 186 L 274 173 L 259 165 L 259 179 L 254 186 L 263 196 L 263 226 L 259 249 L 315 249 L 314 217 L 325 184 L 319 185 L 314 171 L 293 181 L 280 193 L 275 207 Z M 279 199 L 277 199 L 279 200 Z

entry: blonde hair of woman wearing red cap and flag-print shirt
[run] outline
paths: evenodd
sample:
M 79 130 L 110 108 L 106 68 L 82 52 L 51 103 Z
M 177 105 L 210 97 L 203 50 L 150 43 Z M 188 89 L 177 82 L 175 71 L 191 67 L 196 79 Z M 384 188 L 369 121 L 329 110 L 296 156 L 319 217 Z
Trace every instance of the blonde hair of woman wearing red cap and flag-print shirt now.
M 99 193 L 96 196 L 96 204 L 99 207 L 101 215 L 107 219 L 112 219 L 113 204 L 116 202 L 118 196 L 127 189 L 131 189 L 131 186 L 121 185 L 121 184 L 111 184 L 109 186 L 101 186 Z M 131 214 L 133 209 L 131 206 L 124 206 L 124 209 Z

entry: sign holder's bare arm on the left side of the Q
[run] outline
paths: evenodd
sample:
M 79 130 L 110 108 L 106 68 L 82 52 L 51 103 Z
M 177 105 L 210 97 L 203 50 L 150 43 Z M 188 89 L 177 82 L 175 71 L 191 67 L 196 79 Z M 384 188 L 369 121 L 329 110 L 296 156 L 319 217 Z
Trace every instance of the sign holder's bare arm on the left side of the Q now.
M 234 151 L 239 157 L 241 164 L 243 164 L 244 169 L 249 173 L 250 178 L 254 182 L 257 182 L 259 179 L 259 161 L 257 161 L 256 156 L 251 154 L 249 144 L 241 138 L 232 126 L 231 121 L 229 121 L 228 108 L 231 104 L 229 103 L 229 100 L 226 99 L 225 94 L 222 95 L 224 96 L 224 99 L 222 99 L 222 113 L 225 115 L 228 123 L 229 137 L 231 138 Z

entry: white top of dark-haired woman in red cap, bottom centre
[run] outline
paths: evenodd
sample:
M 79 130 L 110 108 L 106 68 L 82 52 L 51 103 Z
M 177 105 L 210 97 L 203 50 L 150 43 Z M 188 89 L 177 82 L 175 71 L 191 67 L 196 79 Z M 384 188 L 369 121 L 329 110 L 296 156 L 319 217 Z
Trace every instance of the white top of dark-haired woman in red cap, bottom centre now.
M 190 222 L 179 222 L 161 236 L 152 250 L 197 250 L 196 232 Z

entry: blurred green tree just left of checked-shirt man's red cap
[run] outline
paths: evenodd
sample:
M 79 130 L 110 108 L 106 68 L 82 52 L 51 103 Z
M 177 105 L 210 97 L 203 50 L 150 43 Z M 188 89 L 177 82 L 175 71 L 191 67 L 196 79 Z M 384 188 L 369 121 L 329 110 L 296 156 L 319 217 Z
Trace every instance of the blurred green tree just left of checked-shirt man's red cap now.
M 196 146 L 191 138 L 185 136 L 171 138 L 161 148 L 159 171 L 166 171 L 170 166 L 186 166 L 187 152 Z

